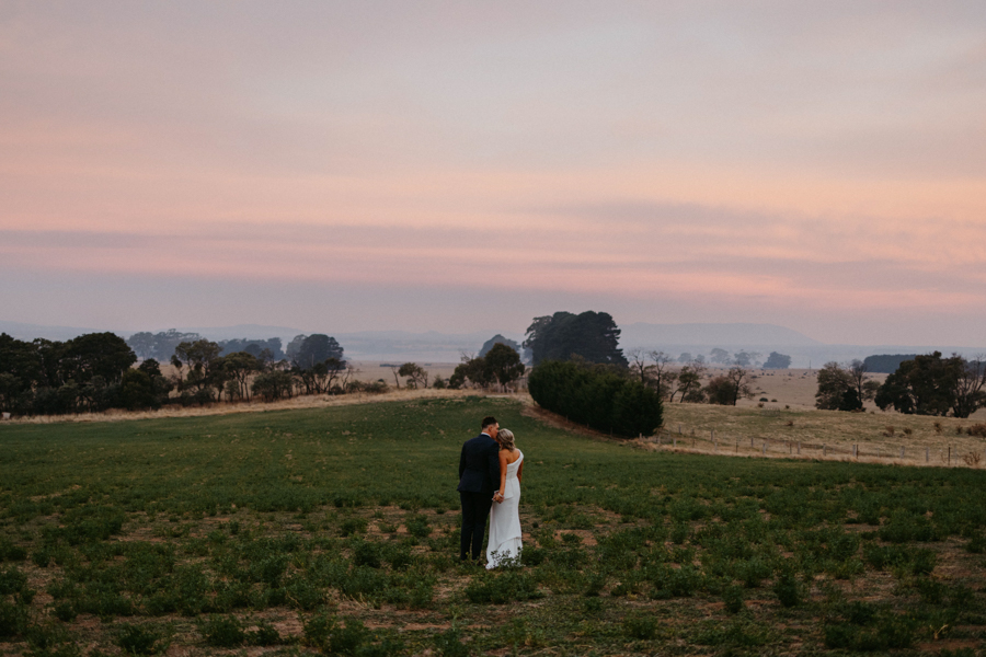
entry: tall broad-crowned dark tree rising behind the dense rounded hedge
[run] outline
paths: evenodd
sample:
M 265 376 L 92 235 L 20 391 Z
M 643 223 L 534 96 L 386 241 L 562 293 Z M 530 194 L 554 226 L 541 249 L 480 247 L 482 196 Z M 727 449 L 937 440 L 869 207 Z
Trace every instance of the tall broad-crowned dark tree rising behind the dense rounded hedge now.
M 535 318 L 527 328 L 524 347 L 531 353 L 531 364 L 569 360 L 580 356 L 588 362 L 627 367 L 619 348 L 620 330 L 606 312 L 581 314 L 557 312 Z

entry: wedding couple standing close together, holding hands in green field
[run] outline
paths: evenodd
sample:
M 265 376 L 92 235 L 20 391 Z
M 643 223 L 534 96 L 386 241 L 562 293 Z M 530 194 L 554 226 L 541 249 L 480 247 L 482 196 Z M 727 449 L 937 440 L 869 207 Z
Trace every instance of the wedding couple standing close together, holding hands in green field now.
M 459 457 L 458 491 L 462 502 L 459 558 L 479 563 L 489 516 L 486 568 L 495 568 L 520 556 L 518 511 L 524 454 L 514 445 L 514 434 L 501 429 L 495 417 L 484 417 L 482 429 L 482 434 L 466 441 Z

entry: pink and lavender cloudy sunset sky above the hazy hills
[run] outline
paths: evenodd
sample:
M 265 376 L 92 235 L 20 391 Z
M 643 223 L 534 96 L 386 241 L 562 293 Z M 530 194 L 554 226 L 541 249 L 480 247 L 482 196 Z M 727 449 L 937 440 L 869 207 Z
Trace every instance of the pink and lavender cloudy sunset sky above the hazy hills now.
M 0 320 L 986 346 L 986 5 L 0 0 Z

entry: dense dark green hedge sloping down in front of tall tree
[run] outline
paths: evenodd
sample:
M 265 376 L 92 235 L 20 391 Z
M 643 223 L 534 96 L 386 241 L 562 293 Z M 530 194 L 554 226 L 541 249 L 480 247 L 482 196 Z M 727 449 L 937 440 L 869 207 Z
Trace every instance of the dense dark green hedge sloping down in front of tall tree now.
M 605 366 L 542 362 L 531 371 L 527 388 L 541 407 L 600 431 L 651 436 L 662 425 L 657 393 Z

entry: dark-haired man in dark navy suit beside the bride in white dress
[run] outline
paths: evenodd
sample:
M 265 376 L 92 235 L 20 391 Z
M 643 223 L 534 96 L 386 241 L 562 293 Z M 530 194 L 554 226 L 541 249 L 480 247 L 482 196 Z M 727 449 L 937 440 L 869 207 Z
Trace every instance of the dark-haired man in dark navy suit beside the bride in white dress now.
M 500 445 L 494 440 L 500 431 L 495 417 L 483 418 L 483 433 L 462 445 L 459 457 L 459 498 L 462 500 L 462 537 L 459 558 L 479 562 L 486 532 L 486 518 L 495 497 L 500 496 Z

